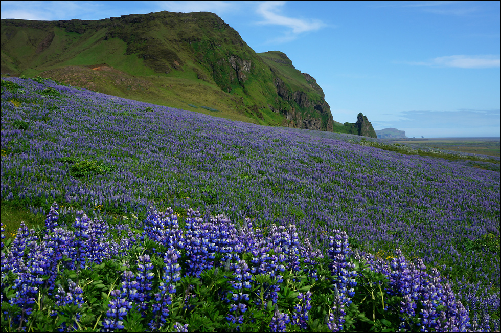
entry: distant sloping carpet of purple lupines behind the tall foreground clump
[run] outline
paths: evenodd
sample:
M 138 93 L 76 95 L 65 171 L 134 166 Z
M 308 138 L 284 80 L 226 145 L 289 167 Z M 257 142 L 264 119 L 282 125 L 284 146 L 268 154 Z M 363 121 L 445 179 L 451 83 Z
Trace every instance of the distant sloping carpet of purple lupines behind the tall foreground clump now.
M 123 239 L 145 227 L 152 202 L 178 216 L 225 214 L 237 229 L 250 217 L 265 237 L 293 224 L 326 258 L 332 230 L 343 230 L 361 253 L 388 259 L 399 248 L 436 269 L 474 322 L 498 329 L 499 172 L 346 138 L 11 78 L 2 200 L 43 213 L 56 200 L 69 227 L 77 210 L 96 212 Z

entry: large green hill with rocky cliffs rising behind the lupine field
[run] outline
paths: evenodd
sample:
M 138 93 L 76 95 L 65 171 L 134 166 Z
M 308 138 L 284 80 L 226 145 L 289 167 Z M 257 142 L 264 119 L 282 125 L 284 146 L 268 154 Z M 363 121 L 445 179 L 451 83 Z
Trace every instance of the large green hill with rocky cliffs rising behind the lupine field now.
M 271 126 L 347 132 L 322 88 L 279 51 L 255 53 L 208 12 L 101 20 L 2 20 L 3 76 Z

